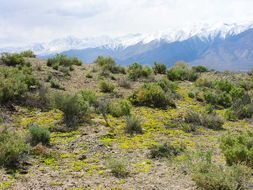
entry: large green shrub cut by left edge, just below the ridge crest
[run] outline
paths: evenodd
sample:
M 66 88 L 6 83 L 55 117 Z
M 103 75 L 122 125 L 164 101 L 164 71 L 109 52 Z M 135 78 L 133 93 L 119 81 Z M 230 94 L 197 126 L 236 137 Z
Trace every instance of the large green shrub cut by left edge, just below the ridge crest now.
M 0 104 L 24 99 L 32 86 L 39 86 L 39 83 L 30 70 L 0 68 Z

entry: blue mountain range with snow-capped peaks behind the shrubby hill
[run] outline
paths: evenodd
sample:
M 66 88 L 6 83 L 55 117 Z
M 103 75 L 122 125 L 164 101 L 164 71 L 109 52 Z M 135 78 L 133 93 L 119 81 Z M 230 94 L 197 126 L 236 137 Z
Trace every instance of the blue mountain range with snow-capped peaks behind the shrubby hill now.
M 118 38 L 66 37 L 25 47 L 0 48 L 0 52 L 25 49 L 42 58 L 61 53 L 76 56 L 85 63 L 104 55 L 114 57 L 122 65 L 133 62 L 151 65 L 157 61 L 172 66 L 176 61 L 186 61 L 217 70 L 246 71 L 253 68 L 253 23 L 195 25 Z

